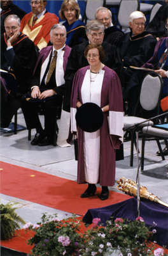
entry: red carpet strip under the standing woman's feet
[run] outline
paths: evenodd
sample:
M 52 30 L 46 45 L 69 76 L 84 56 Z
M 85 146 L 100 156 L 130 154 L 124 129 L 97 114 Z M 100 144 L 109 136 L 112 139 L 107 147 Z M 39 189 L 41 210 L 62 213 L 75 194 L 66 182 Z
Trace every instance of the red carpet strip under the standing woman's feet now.
M 116 204 L 130 198 L 128 195 L 110 191 L 108 200 L 97 196 L 80 198 L 87 188 L 72 180 L 37 172 L 28 168 L 0 161 L 1 193 L 66 212 L 84 215 L 88 209 Z M 101 188 L 97 189 L 100 193 Z

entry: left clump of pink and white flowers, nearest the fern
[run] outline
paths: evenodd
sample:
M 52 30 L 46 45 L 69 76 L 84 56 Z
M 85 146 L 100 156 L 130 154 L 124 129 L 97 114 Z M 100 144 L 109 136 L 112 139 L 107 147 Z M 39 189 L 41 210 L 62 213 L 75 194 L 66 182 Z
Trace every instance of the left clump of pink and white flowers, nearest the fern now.
M 78 255 L 78 249 L 83 243 L 79 226 L 80 221 L 75 216 L 60 221 L 57 214 L 49 216 L 43 214 L 41 223 L 36 225 L 27 223 L 24 228 L 36 232 L 29 240 L 29 244 L 34 244 L 32 255 Z

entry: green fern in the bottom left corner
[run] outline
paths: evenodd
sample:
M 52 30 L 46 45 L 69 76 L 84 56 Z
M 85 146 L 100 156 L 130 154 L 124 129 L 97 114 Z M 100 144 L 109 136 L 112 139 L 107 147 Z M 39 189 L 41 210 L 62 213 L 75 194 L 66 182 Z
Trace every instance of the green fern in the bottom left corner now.
M 7 240 L 11 239 L 15 230 L 20 228 L 18 223 L 25 224 L 25 221 L 18 216 L 15 212 L 18 207 L 13 207 L 18 203 L 11 203 L 8 204 L 0 204 L 0 211 L 1 211 L 1 239 Z

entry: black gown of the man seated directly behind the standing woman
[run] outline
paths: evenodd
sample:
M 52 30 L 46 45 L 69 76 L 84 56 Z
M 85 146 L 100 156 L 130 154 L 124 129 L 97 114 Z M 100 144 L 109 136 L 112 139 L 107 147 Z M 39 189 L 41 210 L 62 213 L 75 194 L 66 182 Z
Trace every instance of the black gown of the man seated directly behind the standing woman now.
M 84 56 L 85 48 L 88 45 L 88 41 L 85 40 L 83 43 L 73 47 L 71 54 L 69 55 L 66 72 L 64 79 L 66 81 L 66 92 L 64 95 L 63 109 L 65 111 L 70 111 L 70 101 L 71 101 L 71 89 L 73 85 L 74 74 L 79 68 L 86 67 L 88 65 L 87 58 Z M 116 55 L 116 47 L 108 44 L 107 42 L 102 43 L 102 47 L 105 53 L 105 60 L 102 61 L 104 65 L 112 68 L 116 73 L 120 73 L 120 63 Z

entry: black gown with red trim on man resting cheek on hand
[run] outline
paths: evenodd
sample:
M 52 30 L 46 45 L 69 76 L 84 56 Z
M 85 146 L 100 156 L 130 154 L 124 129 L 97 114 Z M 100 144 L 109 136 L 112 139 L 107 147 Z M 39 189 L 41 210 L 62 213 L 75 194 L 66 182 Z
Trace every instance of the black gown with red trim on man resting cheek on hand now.
M 32 72 L 37 60 L 36 47 L 24 34 L 20 33 L 13 48 L 6 51 L 6 34 L 1 35 L 1 68 L 15 75 L 18 83 L 17 91 L 26 93 L 31 81 Z

